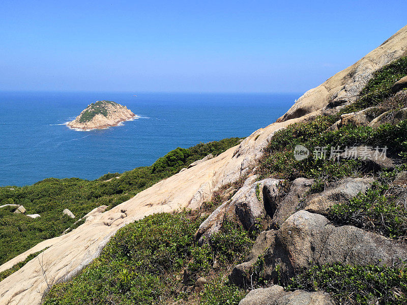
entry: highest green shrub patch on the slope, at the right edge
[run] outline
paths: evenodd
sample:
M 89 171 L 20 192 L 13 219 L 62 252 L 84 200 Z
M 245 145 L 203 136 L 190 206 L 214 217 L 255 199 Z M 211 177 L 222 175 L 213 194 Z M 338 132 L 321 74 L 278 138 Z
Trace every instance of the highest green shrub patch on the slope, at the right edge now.
M 373 77 L 363 88 L 356 103 L 346 106 L 341 113 L 350 113 L 381 104 L 391 93 L 391 87 L 407 75 L 407 57 L 402 57 L 374 72 Z

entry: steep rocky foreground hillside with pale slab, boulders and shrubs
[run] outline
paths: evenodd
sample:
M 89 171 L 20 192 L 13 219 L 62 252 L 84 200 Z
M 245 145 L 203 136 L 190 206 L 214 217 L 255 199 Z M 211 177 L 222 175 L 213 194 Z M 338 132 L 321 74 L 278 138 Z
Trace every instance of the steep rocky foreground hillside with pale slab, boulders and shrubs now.
M 407 26 L 238 146 L 1 265 L 35 256 L 0 303 L 405 304 L 405 55 Z

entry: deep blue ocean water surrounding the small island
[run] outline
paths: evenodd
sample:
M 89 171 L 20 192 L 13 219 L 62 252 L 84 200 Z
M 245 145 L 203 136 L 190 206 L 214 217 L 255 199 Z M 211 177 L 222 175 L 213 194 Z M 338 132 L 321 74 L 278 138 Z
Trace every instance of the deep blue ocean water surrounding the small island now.
M 273 123 L 298 96 L 0 92 L 0 186 L 96 179 L 151 165 L 176 147 L 245 137 Z M 86 132 L 64 125 L 98 100 L 126 105 L 140 118 Z

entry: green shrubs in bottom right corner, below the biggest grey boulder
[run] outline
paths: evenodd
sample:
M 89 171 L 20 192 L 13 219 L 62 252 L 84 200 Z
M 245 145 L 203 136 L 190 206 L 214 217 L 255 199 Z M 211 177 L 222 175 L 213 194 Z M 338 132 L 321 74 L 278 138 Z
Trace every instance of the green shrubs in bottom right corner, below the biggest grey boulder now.
M 407 303 L 407 268 L 388 266 L 314 266 L 289 280 L 288 290 L 325 290 L 338 305 Z

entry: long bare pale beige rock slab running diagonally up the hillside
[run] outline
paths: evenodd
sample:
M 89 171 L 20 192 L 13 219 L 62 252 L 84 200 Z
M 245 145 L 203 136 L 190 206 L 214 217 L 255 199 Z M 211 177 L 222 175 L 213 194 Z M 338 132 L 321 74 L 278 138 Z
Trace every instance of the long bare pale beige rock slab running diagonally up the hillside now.
M 406 51 L 407 26 L 379 48 L 369 53 L 371 55 L 359 60 L 357 66 L 367 67 L 370 65 L 370 70 L 378 69 L 390 60 L 402 56 Z M 352 68 L 351 70 L 355 69 Z M 210 200 L 217 188 L 248 172 L 255 160 L 261 156 L 268 140 L 277 130 L 320 114 L 321 108 L 327 105 L 328 96 L 331 94 L 336 93 L 337 97 L 346 95 L 346 93 L 355 96 L 363 86 L 361 82 L 352 81 L 354 78 L 349 74 L 349 70 L 345 69 L 344 71 L 330 78 L 329 88 L 323 85 L 323 88 L 313 89 L 300 98 L 301 107 L 306 109 L 305 112 L 309 114 L 300 118 L 289 119 L 290 116 L 297 116 L 293 115 L 293 107 L 297 104 L 294 105 L 288 111 L 292 114 L 286 116 L 280 123 L 274 123 L 255 131 L 240 145 L 158 182 L 111 210 L 100 212 L 100 210 L 95 209 L 91 212 L 93 215 L 88 217 L 85 223 L 77 229 L 39 243 L 1 265 L 0 272 L 23 261 L 28 255 L 49 247 L 40 254 L 42 267 L 49 284 L 68 280 L 96 258 L 109 238 L 124 225 L 156 212 L 169 212 L 183 207 L 192 209 L 199 207 L 203 201 Z M 368 79 L 369 75 L 371 77 L 371 72 L 366 72 L 363 75 Z M 363 78 L 363 83 L 365 83 L 365 78 Z M 0 304 L 39 304 L 46 288 L 47 283 L 44 280 L 39 260 L 33 259 L 0 283 Z

